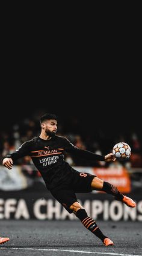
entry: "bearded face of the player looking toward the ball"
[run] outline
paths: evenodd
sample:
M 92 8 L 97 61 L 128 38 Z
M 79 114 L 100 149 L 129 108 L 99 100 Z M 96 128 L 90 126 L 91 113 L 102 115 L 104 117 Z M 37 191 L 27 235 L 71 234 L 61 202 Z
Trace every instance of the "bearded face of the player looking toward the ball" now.
M 48 136 L 54 136 L 57 133 L 57 121 L 54 119 L 45 122 L 45 133 Z

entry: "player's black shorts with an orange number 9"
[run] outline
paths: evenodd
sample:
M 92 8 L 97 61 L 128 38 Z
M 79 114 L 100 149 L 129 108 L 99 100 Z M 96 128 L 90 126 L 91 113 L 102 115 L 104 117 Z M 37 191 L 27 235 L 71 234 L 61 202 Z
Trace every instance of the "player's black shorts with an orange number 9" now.
M 91 182 L 93 178 L 96 177 L 93 174 L 78 171 L 73 172 L 72 176 L 73 179 L 70 183 L 64 183 L 61 186 L 50 189 L 53 197 L 60 202 L 69 213 L 73 212 L 69 209 L 70 206 L 78 202 L 75 193 L 91 192 Z

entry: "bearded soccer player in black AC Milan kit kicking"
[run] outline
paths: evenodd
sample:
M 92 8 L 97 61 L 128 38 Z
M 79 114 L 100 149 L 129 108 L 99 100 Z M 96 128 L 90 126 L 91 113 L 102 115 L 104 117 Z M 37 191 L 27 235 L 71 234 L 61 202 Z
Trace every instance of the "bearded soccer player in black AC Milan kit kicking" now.
M 129 207 L 135 207 L 135 202 L 121 194 L 116 186 L 100 180 L 87 172 L 78 172 L 64 160 L 64 151 L 75 154 L 76 157 L 91 161 L 115 161 L 113 153 L 100 156 L 74 146 L 66 137 L 57 136 L 57 116 L 46 113 L 40 118 L 41 133 L 38 137 L 24 142 L 14 153 L 4 157 L 2 164 L 8 169 L 20 157 L 30 156 L 36 168 L 49 189 L 61 205 L 69 213 L 74 213 L 81 220 L 82 225 L 102 240 L 103 245 L 114 245 L 97 226 L 93 218 L 89 217 L 85 209 L 78 202 L 76 192 L 104 191 L 114 195 Z

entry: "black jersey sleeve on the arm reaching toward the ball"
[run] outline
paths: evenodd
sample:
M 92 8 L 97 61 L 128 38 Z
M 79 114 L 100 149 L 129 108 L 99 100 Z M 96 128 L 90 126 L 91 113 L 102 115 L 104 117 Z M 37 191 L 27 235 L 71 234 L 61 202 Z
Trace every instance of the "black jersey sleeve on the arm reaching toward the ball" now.
M 73 145 L 68 139 L 64 137 L 64 151 L 73 154 L 76 157 L 84 158 L 86 160 L 105 161 L 105 156 L 100 156 L 92 153 L 91 151 L 79 149 Z

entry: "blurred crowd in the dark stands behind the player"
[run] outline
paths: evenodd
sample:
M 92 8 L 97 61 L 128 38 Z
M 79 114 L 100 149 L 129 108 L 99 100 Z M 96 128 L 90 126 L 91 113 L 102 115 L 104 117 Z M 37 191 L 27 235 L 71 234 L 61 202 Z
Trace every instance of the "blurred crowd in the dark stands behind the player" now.
M 19 120 L 13 123 L 7 130 L 1 131 L 0 136 L 0 160 L 8 153 L 13 153 L 19 146 L 40 134 L 39 116 L 36 114 L 30 118 Z M 115 134 L 108 130 L 87 130 L 80 125 L 79 120 L 70 117 L 70 120 L 58 122 L 59 136 L 67 137 L 74 145 L 81 149 L 87 149 L 96 154 L 108 154 L 113 150 L 117 142 L 126 142 L 131 146 L 132 154 L 126 162 L 117 161 L 115 164 L 126 165 L 127 168 L 142 168 L 142 147 L 140 136 L 137 131 L 129 131 Z M 65 155 L 65 160 L 72 166 L 106 166 L 105 162 L 87 162 L 85 159 L 78 159 L 75 156 Z M 31 158 L 26 156 L 17 161 L 17 164 L 32 165 Z

